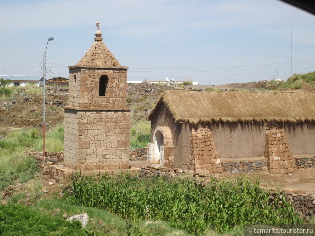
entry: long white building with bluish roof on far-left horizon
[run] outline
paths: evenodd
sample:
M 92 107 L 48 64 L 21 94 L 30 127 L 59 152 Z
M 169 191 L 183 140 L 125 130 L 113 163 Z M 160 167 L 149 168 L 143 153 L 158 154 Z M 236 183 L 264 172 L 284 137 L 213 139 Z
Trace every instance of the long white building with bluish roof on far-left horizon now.
M 25 87 L 29 84 L 40 86 L 43 83 L 42 75 L 0 75 L 0 79 L 10 80 L 9 86 Z

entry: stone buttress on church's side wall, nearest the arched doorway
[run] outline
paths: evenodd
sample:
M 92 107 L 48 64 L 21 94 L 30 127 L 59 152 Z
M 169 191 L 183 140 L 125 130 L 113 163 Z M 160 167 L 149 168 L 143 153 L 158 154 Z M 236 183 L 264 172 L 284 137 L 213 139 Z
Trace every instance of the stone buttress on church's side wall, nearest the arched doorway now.
M 210 129 L 192 130 L 190 153 L 190 165 L 195 166 L 197 173 L 222 172 L 219 155 Z

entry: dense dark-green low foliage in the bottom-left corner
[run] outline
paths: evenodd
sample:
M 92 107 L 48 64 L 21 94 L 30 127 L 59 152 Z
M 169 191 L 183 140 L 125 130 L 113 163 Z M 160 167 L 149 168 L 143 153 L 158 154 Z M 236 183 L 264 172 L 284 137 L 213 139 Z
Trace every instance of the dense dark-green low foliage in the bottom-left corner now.
M 2 236 L 81 236 L 89 235 L 81 223 L 64 219 L 22 205 L 0 205 L 0 235 Z

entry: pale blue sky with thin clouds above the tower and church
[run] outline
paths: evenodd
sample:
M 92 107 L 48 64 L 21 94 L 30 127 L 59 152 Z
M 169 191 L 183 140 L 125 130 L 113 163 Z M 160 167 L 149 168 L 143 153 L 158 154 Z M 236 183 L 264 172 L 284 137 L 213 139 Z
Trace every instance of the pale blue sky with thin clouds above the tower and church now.
M 54 37 L 47 76 L 68 77 L 96 20 L 128 80 L 287 79 L 291 27 L 292 73 L 315 70 L 315 16 L 278 0 L 0 0 L 0 75 L 40 75 Z

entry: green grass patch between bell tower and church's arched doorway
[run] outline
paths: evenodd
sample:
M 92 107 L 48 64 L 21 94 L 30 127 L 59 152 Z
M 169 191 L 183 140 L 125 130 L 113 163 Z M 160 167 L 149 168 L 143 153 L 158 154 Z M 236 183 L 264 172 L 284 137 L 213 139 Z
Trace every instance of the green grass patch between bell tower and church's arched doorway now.
M 130 149 L 144 148 L 150 143 L 150 121 L 140 120 L 131 124 Z

